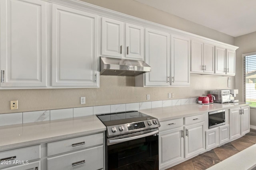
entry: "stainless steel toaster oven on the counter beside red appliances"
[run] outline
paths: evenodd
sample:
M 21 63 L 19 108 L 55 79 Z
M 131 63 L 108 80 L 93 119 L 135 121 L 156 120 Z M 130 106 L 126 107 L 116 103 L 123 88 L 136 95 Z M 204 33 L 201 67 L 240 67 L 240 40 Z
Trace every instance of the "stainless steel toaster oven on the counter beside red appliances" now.
M 210 94 L 215 97 L 215 103 L 230 102 L 230 90 L 210 90 Z

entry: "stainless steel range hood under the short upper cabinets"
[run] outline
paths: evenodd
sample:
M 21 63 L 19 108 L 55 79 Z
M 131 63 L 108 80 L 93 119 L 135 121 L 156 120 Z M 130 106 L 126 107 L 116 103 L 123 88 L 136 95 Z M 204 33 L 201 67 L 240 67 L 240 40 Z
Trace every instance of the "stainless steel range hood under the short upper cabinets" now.
M 150 71 L 151 67 L 144 61 L 100 57 L 100 75 L 138 76 Z

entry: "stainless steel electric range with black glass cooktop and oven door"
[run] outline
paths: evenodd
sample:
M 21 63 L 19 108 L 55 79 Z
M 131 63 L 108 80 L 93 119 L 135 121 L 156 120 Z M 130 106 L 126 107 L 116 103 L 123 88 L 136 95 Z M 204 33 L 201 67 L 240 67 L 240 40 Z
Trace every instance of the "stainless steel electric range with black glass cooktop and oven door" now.
M 97 117 L 107 127 L 106 170 L 158 170 L 158 119 L 139 111 Z

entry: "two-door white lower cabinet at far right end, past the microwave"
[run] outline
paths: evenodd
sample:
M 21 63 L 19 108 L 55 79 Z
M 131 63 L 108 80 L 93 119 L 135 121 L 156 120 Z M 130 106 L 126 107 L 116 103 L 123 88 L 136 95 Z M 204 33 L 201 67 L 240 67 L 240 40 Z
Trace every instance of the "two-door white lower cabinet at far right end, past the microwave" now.
M 230 139 L 240 137 L 250 132 L 250 107 L 229 109 Z

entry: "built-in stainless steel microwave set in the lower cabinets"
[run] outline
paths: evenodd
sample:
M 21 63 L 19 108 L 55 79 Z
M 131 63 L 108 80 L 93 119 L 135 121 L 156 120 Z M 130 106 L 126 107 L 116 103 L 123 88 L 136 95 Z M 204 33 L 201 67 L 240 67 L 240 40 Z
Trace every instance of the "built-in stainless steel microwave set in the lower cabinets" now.
M 208 124 L 209 129 L 217 127 L 217 126 L 225 125 L 226 124 L 225 109 L 209 112 L 208 123 L 209 123 Z

